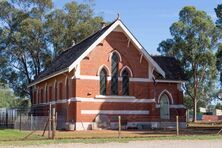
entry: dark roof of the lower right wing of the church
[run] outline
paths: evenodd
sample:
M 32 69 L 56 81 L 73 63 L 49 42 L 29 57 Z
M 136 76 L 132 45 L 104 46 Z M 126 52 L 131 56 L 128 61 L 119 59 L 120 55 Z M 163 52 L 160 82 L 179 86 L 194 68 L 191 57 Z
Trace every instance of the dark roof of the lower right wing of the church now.
M 157 80 L 174 80 L 187 81 L 187 76 L 184 74 L 178 60 L 174 57 L 167 56 L 152 56 L 158 65 L 164 70 L 165 78 L 158 72 L 154 71 L 154 76 Z

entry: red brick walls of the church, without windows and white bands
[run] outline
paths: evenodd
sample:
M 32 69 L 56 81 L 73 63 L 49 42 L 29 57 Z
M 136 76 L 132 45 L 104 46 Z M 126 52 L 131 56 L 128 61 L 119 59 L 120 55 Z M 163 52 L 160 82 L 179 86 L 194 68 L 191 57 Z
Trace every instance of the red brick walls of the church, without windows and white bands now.
M 130 42 L 128 46 L 128 38 L 120 32 L 112 32 L 106 37 L 86 58 L 80 62 L 80 76 L 93 76 L 96 79 L 82 79 L 73 78 L 74 71 L 70 73 L 64 73 L 41 82 L 36 85 L 36 89 L 33 91 L 33 103 L 47 103 L 56 99 L 57 101 L 63 99 L 72 99 L 76 97 L 80 98 L 95 98 L 100 94 L 100 82 L 98 76 L 98 70 L 101 65 L 106 65 L 110 77 L 111 73 L 111 61 L 110 55 L 116 50 L 121 55 L 121 61 L 119 63 L 119 77 L 120 71 L 124 66 L 128 66 L 133 73 L 133 78 L 148 78 L 149 77 L 149 63 L 142 57 L 141 53 Z M 56 83 L 55 83 L 56 82 Z M 56 88 L 55 88 L 56 86 Z M 47 87 L 47 89 L 45 89 Z M 46 96 L 41 102 L 39 93 L 43 91 L 43 96 Z M 47 91 L 45 91 L 47 90 Z M 155 99 L 158 103 L 159 95 L 162 91 L 166 90 L 169 97 L 172 96 L 173 101 L 170 100 L 170 104 L 182 104 L 183 94 L 177 88 L 177 83 L 160 83 L 158 82 L 154 88 L 153 82 L 135 82 L 129 83 L 129 95 L 135 96 L 136 99 Z M 110 95 L 111 84 L 110 80 L 107 81 L 107 95 Z M 46 95 L 44 95 L 46 93 Z M 118 81 L 118 95 L 122 95 L 122 81 Z M 124 120 L 134 122 L 151 122 L 160 121 L 160 109 L 156 107 L 155 102 L 151 103 L 114 103 L 114 102 L 87 102 L 87 101 L 73 101 L 66 103 L 58 103 L 56 105 L 57 112 L 64 114 L 65 120 L 68 122 L 93 122 L 95 120 L 95 114 L 81 114 L 81 110 L 135 110 L 135 111 L 149 111 L 147 115 L 122 115 Z M 168 121 L 175 121 L 175 116 L 185 116 L 185 109 L 183 108 L 171 108 L 170 119 Z M 112 116 L 112 115 L 108 115 Z M 185 121 L 181 119 L 180 121 Z

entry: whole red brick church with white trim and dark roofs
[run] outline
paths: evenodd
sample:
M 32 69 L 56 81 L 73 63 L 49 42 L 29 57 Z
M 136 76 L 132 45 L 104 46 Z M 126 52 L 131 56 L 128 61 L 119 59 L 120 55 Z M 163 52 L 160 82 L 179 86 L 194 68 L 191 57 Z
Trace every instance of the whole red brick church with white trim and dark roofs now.
M 30 85 L 32 110 L 51 103 L 60 128 L 94 128 L 105 116 L 110 128 L 121 116 L 126 127 L 186 126 L 181 85 L 186 81 L 174 57 L 151 56 L 119 19 L 62 52 Z

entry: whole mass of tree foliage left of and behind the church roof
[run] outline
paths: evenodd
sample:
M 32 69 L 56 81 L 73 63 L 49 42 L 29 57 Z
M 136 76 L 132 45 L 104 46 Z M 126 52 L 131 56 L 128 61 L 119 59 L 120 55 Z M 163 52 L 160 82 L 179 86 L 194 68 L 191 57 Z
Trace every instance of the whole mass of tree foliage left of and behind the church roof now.
M 29 96 L 30 83 L 66 48 L 99 29 L 101 17 L 89 4 L 51 0 L 0 1 L 0 82 Z

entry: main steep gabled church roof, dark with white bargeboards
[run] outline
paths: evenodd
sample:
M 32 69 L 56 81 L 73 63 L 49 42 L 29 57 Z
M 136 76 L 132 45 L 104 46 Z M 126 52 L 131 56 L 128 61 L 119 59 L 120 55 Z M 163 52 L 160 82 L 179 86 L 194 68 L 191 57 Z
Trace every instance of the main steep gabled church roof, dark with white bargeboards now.
M 137 49 L 144 55 L 144 57 L 151 63 L 153 67 L 165 77 L 165 72 L 160 68 L 160 66 L 151 58 L 143 46 L 137 41 L 133 34 L 128 30 L 128 28 L 119 19 L 110 23 L 103 29 L 97 31 L 93 35 L 84 39 L 80 43 L 68 48 L 66 51 L 62 52 L 57 58 L 52 61 L 52 64 L 40 73 L 36 79 L 29 84 L 29 87 L 47 80 L 51 77 L 59 75 L 64 72 L 70 72 L 75 68 L 75 66 L 87 56 L 110 32 L 112 32 L 116 27 L 120 26 L 125 35 L 133 42 Z

